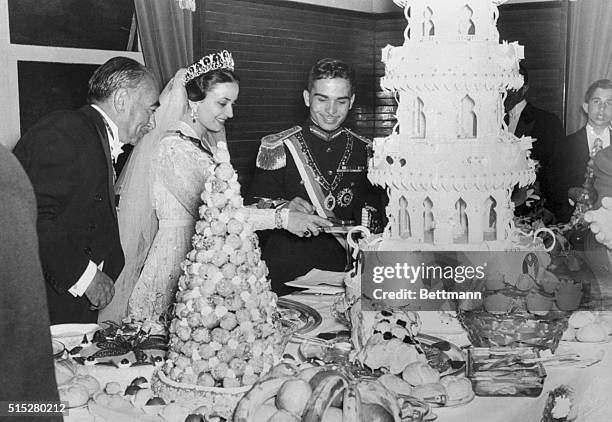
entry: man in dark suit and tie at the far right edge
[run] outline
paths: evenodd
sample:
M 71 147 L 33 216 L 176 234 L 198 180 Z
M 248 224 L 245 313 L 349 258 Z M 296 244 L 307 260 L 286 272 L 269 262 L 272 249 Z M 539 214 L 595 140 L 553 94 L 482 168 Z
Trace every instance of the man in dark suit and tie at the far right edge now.
M 553 177 L 557 183 L 552 199 L 558 204 L 556 214 L 561 222 L 569 221 L 574 212 L 574 206 L 568 201 L 568 190 L 582 186 L 591 155 L 610 145 L 612 81 L 593 82 L 584 95 L 582 110 L 587 115 L 587 124 L 559 144 L 554 160 Z

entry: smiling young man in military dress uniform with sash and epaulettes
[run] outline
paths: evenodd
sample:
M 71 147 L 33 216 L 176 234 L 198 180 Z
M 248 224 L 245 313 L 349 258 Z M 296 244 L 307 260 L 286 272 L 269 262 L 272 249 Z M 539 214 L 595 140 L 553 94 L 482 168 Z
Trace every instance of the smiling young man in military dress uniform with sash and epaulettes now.
M 380 209 L 366 178 L 371 142 L 342 126 L 355 100 L 354 83 L 353 69 L 340 60 L 321 59 L 310 69 L 303 92 L 310 118 L 302 127 L 262 139 L 249 189 L 253 202 L 282 198 L 292 210 L 352 224 L 360 223 L 366 203 Z M 284 282 L 313 268 L 345 269 L 347 254 L 339 238 L 318 231 L 305 235 L 276 230 L 262 237 L 263 258 L 278 294 L 291 291 Z

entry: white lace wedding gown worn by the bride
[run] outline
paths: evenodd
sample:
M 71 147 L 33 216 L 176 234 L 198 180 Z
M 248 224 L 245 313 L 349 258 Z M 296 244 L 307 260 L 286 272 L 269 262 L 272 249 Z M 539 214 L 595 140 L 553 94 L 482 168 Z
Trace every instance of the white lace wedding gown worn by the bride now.
M 174 300 L 181 262 L 192 249 L 200 195 L 213 158 L 196 142 L 191 127 L 177 123 L 160 141 L 157 159 L 152 164 L 153 207 L 159 221 L 142 272 L 128 304 L 128 314 L 136 319 L 157 320 Z M 249 210 L 248 219 L 255 230 L 275 226 L 274 210 Z

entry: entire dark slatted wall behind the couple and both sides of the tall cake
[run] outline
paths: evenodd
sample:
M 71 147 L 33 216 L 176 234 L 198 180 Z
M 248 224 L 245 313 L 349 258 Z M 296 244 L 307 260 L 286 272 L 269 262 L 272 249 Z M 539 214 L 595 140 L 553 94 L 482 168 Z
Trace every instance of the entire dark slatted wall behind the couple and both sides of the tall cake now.
M 250 182 L 261 137 L 306 119 L 301 93 L 318 58 L 340 58 L 357 70 L 348 123 L 368 137 L 391 132 L 396 103 L 380 88 L 380 55 L 385 45 L 403 43 L 406 20 L 399 8 L 375 15 L 277 0 L 202 0 L 197 13 L 200 53 L 232 51 L 242 79 L 227 133 L 243 186 Z M 567 0 L 501 6 L 498 23 L 502 39 L 525 46 L 529 99 L 562 118 Z

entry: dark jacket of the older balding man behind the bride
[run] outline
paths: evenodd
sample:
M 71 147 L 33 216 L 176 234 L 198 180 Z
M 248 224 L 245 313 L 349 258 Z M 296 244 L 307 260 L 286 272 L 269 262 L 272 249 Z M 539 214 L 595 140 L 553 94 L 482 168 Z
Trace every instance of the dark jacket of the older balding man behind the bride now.
M 52 113 L 17 143 L 15 155 L 38 201 L 40 256 L 51 323 L 96 322 L 85 296 L 67 290 L 91 260 L 116 279 L 123 268 L 110 148 L 92 107 Z

